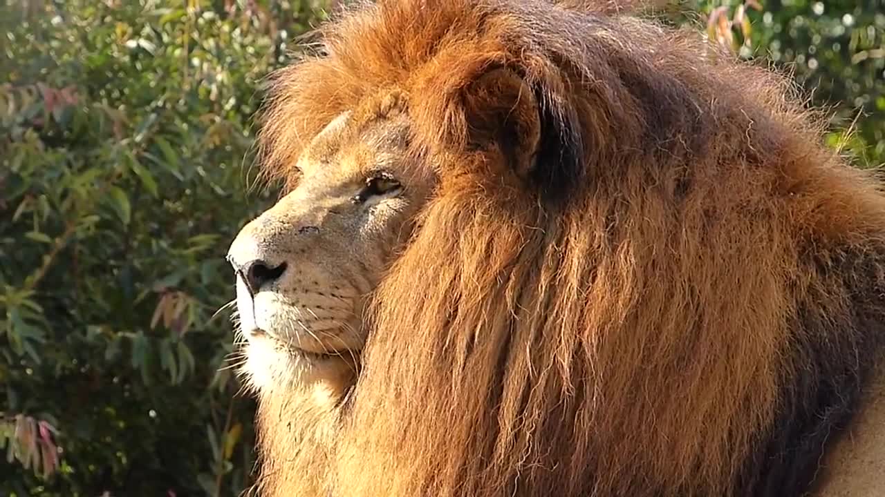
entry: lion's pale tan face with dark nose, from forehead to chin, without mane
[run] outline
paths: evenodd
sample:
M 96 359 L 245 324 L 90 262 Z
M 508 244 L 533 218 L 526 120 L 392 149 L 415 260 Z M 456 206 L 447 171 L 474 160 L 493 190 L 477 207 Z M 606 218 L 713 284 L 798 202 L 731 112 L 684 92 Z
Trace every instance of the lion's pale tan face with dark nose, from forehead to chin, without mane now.
M 367 294 L 433 186 L 404 158 L 408 131 L 403 113 L 343 113 L 304 150 L 297 186 L 237 235 L 227 257 L 245 370 L 259 389 L 358 358 Z

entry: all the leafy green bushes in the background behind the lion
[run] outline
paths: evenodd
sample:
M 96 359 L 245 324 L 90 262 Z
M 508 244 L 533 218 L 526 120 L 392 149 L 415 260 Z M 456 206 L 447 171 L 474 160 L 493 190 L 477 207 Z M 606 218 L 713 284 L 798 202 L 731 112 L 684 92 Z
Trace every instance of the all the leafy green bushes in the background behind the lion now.
M 325 4 L 0 0 L 0 495 L 249 485 L 223 255 L 274 197 L 250 189 L 260 80 Z M 885 162 L 881 0 L 668 12 L 794 73 L 834 146 Z

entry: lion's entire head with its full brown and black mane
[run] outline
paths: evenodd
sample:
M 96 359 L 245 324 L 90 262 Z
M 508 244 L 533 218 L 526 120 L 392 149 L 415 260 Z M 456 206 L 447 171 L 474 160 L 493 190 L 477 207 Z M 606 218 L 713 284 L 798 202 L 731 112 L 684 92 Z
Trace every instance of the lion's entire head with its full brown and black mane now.
M 229 253 L 266 494 L 811 488 L 881 356 L 885 195 L 787 80 L 607 4 L 322 35 Z

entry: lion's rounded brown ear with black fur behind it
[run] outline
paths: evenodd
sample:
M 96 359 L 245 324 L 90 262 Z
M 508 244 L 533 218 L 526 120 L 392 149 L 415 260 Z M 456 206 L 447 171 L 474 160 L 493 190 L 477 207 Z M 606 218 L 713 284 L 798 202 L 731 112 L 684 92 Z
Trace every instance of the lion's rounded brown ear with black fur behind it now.
M 563 198 L 580 176 L 582 155 L 563 99 L 506 67 L 482 73 L 464 90 L 469 144 L 496 146 L 519 178 L 548 198 Z

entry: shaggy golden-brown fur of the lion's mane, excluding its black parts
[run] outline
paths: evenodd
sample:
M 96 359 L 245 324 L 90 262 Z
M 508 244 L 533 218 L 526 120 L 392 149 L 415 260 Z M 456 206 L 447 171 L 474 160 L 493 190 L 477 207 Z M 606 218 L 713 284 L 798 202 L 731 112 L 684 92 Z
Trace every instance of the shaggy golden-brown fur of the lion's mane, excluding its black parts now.
M 290 195 L 320 130 L 345 111 L 388 126 L 391 99 L 410 135 L 395 169 L 433 194 L 363 274 L 346 410 L 340 387 L 263 395 L 268 494 L 734 492 L 804 367 L 789 317 L 849 312 L 807 255 L 881 243 L 885 200 L 786 80 L 581 8 L 381 1 L 274 75 L 262 158 Z M 549 189 L 539 106 L 582 150 Z

